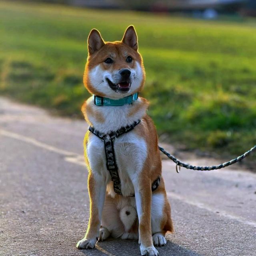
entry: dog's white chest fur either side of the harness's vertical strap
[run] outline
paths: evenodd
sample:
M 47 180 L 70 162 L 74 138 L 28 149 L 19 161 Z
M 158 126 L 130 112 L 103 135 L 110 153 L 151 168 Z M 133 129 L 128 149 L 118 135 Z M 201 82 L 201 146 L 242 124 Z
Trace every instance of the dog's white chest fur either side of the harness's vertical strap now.
M 115 196 L 113 182 L 106 168 L 104 142 L 92 135 L 86 150 L 92 172 L 96 176 L 105 177 L 108 183 L 108 193 L 111 196 Z M 122 194 L 124 196 L 130 196 L 134 194 L 132 180 L 138 179 L 147 157 L 146 142 L 142 137 L 135 134 L 134 131 L 131 131 L 115 139 L 114 150 L 118 174 L 121 180 Z

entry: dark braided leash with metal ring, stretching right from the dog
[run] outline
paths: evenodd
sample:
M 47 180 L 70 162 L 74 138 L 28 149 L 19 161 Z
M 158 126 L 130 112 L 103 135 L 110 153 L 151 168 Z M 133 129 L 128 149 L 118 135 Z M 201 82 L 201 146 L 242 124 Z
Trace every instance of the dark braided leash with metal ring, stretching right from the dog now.
M 244 154 L 242 154 L 241 156 L 238 156 L 235 159 L 232 159 L 226 163 L 223 164 L 219 164 L 217 166 L 205 166 L 205 167 L 201 167 L 201 166 L 192 166 L 190 164 L 185 164 L 182 163 L 180 160 L 176 159 L 174 156 L 172 156 L 170 153 L 168 153 L 166 150 L 164 150 L 164 148 L 161 148 L 160 146 L 158 146 L 159 150 L 162 151 L 166 156 L 168 156 L 168 158 L 170 158 L 174 163 L 176 163 L 176 172 L 180 172 L 180 167 L 185 167 L 187 169 L 191 169 L 191 170 L 198 170 L 198 171 L 210 171 L 210 170 L 217 170 L 217 169 L 221 169 L 224 168 L 226 166 L 229 166 L 231 164 L 235 164 L 236 162 L 241 161 L 242 159 L 246 158 L 246 156 L 248 156 L 250 153 L 252 153 L 253 151 L 256 150 L 256 145 L 251 148 L 250 150 L 248 150 L 247 152 L 245 152 Z M 179 166 L 179 169 L 178 169 Z

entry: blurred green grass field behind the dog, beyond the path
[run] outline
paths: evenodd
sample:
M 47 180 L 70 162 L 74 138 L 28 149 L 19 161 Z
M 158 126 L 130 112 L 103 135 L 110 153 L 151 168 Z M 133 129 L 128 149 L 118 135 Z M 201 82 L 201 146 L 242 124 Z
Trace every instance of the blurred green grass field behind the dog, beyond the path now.
M 79 116 L 90 29 L 120 40 L 134 24 L 142 95 L 160 139 L 234 156 L 256 144 L 256 21 L 0 2 L 0 93 Z M 256 160 L 256 156 L 251 156 Z

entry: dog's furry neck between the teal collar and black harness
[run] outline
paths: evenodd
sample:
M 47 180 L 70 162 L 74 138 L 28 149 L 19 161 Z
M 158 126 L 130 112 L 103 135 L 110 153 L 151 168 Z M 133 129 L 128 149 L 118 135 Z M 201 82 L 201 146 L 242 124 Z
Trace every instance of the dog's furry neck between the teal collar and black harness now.
M 141 97 L 132 104 L 123 106 L 96 106 L 92 96 L 82 106 L 82 112 L 88 124 L 107 134 L 141 119 L 146 114 L 147 108 L 148 102 Z

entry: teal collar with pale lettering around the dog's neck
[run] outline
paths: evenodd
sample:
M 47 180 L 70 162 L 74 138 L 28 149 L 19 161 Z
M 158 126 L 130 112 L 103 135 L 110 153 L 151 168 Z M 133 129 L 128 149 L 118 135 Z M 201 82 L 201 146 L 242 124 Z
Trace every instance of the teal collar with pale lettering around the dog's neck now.
M 113 100 L 110 98 L 104 98 L 101 96 L 93 95 L 94 97 L 94 104 L 96 106 L 123 106 L 125 104 L 132 104 L 135 100 L 138 99 L 138 92 L 126 96 L 124 98 Z

